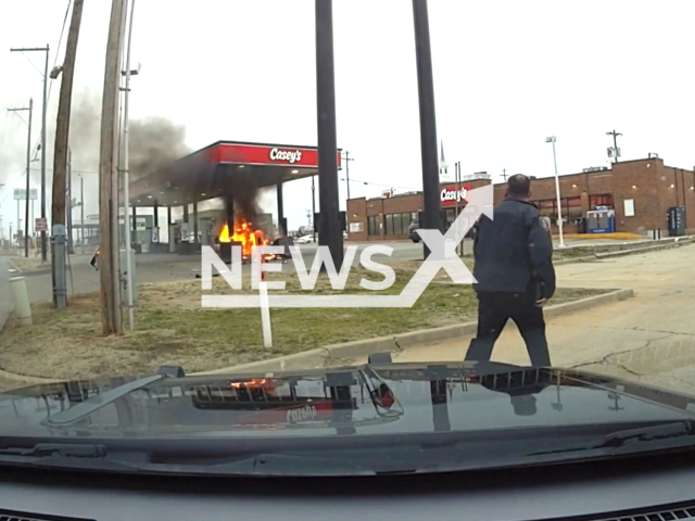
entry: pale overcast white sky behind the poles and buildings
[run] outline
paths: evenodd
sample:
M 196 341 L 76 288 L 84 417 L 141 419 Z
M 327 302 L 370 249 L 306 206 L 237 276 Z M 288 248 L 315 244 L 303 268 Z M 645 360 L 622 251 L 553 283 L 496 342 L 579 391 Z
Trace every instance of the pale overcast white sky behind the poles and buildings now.
M 45 53 L 10 48 L 49 43 L 49 68 L 62 63 L 67 27 L 55 50 L 67 5 L 68 0 L 0 0 L 5 230 L 16 221 L 12 189 L 26 182 L 28 116 L 5 109 L 34 98 L 36 142 L 38 69 L 45 60 Z M 85 1 L 74 112 L 100 107 L 110 9 L 108 0 Z M 692 168 L 694 14 L 692 0 L 430 0 L 438 139 L 450 168 L 460 162 L 463 174 L 488 171 L 497 182 L 503 169 L 551 176 L 548 136 L 557 138 L 560 175 L 605 166 L 612 144 L 606 132 L 612 129 L 623 135 L 623 160 L 655 152 L 670 166 Z M 185 129 L 191 150 L 217 140 L 315 145 L 314 22 L 313 0 L 137 0 L 132 60 L 142 68 L 132 79 L 131 117 L 170 120 Z M 333 30 L 338 145 L 355 160 L 351 196 L 421 189 L 412 2 L 333 0 Z M 49 182 L 59 90 L 60 79 L 50 84 Z M 73 170 L 84 173 L 87 215 L 99 204 L 99 122 L 92 119 L 74 115 L 71 129 Z M 39 162 L 31 164 L 33 187 L 38 168 Z M 47 194 L 50 200 L 50 186 Z M 344 208 L 344 181 L 340 196 Z M 306 224 L 311 180 L 287 183 L 285 201 L 289 228 Z M 262 203 L 273 207 L 274 195 Z

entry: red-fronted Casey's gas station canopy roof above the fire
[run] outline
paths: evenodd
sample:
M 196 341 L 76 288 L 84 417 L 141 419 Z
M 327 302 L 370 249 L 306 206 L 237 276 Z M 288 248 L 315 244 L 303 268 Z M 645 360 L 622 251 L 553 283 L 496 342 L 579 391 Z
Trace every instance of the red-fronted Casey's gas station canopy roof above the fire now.
M 317 174 L 316 147 L 217 141 L 130 182 L 130 204 L 180 206 Z

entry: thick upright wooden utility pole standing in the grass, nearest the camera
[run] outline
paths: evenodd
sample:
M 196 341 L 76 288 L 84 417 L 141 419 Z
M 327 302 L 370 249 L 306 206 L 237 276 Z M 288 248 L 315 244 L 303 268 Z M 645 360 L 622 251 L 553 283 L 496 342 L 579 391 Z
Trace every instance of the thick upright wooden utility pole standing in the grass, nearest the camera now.
M 124 0 L 112 0 L 106 42 L 106 68 L 101 103 L 101 144 L 99 150 L 99 275 L 101 325 L 104 334 L 121 333 L 121 292 L 118 282 L 118 99 L 121 53 L 123 50 Z

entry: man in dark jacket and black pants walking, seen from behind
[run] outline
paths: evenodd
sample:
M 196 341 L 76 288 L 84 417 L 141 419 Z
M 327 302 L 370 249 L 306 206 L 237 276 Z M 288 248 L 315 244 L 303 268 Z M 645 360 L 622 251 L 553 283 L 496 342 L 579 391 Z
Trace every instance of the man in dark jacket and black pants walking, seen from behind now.
M 478 334 L 466 360 L 489 360 L 507 320 L 519 328 L 531 365 L 548 367 L 543 306 L 555 293 L 553 240 L 547 221 L 530 201 L 531 179 L 507 181 L 494 220 L 482 217 L 473 240 L 473 284 L 478 296 Z

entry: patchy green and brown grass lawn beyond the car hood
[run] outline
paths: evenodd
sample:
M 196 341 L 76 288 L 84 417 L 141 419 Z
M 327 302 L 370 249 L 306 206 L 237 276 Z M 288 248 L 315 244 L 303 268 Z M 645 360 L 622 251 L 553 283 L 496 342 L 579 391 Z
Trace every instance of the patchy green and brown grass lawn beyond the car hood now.
M 394 265 L 396 282 L 388 293 L 400 293 L 419 263 Z M 440 281 L 448 280 L 448 277 Z M 380 276 L 353 269 L 350 293 L 367 292 L 362 277 Z M 269 274 L 286 280 L 285 293 L 301 292 L 289 274 Z M 244 288 L 249 288 L 244 281 Z M 251 290 L 242 290 L 242 292 Z M 315 293 L 332 290 L 320 275 Z M 263 348 L 258 309 L 203 309 L 200 280 L 140 284 L 136 330 L 119 336 L 101 335 L 99 297 L 80 295 L 67 309 L 49 304 L 34 306 L 34 326 L 17 328 L 11 319 L 0 333 L 0 367 L 20 374 L 49 378 L 88 378 L 155 370 L 160 365 L 181 365 L 187 371 L 233 366 L 312 350 L 340 342 L 403 333 L 467 321 L 476 316 L 470 285 L 432 283 L 413 308 L 271 309 L 273 351 Z M 222 278 L 213 279 L 213 294 L 231 293 Z M 559 290 L 553 303 L 601 293 Z M 124 320 L 126 320 L 124 316 Z

